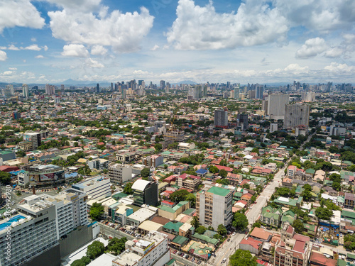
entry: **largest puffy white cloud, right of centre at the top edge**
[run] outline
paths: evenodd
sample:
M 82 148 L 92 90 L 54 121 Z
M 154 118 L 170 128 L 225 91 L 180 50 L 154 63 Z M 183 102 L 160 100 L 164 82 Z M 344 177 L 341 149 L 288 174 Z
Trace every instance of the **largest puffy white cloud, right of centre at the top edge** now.
M 283 43 L 288 32 L 283 14 L 258 0 L 246 0 L 236 13 L 217 13 L 212 1 L 201 7 L 192 0 L 179 0 L 176 14 L 166 36 L 179 50 Z

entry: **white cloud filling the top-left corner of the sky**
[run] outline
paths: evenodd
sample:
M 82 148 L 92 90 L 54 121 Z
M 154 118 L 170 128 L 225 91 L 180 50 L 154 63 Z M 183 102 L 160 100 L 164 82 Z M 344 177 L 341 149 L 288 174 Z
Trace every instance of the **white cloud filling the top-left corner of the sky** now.
M 0 0 L 0 33 L 3 33 L 4 28 L 16 26 L 43 28 L 45 20 L 30 0 Z

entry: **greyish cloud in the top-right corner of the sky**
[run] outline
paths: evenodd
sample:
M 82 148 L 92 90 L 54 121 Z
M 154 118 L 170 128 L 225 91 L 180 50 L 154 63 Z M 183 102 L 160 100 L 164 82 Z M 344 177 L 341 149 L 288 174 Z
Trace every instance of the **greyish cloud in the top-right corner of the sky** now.
M 353 0 L 274 0 L 273 6 L 288 18 L 292 26 L 324 32 L 354 26 Z

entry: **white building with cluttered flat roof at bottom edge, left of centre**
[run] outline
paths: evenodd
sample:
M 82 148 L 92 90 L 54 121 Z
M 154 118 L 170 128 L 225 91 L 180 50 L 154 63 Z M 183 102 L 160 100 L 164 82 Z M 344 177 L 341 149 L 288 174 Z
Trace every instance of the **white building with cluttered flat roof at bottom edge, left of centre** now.
M 164 233 L 150 231 L 141 240 L 128 240 L 125 246 L 113 266 L 161 266 L 170 260 L 168 235 Z

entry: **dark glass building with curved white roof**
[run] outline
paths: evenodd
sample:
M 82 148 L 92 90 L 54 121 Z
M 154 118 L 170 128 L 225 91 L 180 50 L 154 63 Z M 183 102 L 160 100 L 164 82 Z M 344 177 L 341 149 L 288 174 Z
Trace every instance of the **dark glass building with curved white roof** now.
M 156 182 L 138 179 L 136 182 L 133 183 L 132 190 L 134 205 L 158 205 L 158 184 Z

